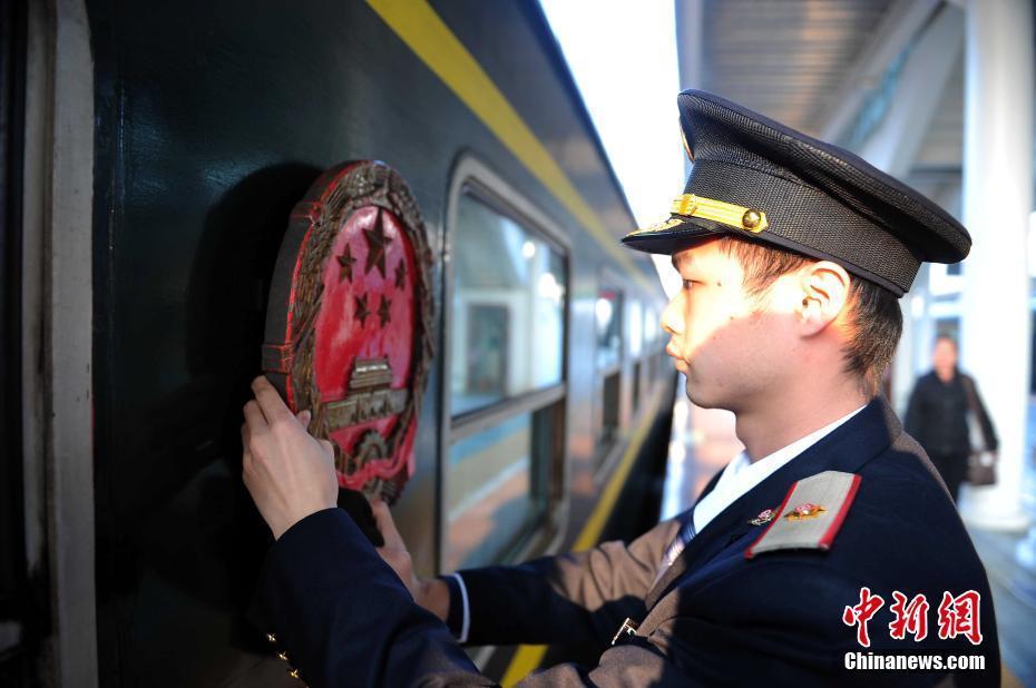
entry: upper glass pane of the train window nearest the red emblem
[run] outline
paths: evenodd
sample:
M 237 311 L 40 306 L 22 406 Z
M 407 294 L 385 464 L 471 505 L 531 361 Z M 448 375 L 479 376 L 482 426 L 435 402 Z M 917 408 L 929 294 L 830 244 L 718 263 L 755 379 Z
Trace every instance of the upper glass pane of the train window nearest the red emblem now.
M 455 227 L 450 407 L 453 415 L 561 381 L 560 253 L 470 193 Z

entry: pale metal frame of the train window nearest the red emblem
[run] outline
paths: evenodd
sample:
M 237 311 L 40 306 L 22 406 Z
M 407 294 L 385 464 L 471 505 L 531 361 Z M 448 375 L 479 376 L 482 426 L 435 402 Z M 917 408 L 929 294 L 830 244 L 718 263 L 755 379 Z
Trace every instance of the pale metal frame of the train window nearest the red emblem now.
M 452 346 L 453 346 L 453 245 L 457 227 L 457 214 L 462 196 L 469 193 L 493 212 L 499 213 L 520 225 L 524 229 L 544 240 L 556 250 L 565 265 L 565 304 L 561 311 L 564 331 L 561 335 L 561 379 L 546 387 L 539 387 L 516 396 L 492 402 L 486 406 L 467 411 L 457 416 L 452 412 Z M 450 450 L 457 442 L 487 430 L 501 421 L 519 414 L 534 414 L 559 406 L 555 422 L 558 449 L 551 465 L 547 466 L 546 513 L 541 522 L 519 534 L 515 542 L 502 550 L 504 562 L 514 562 L 534 553 L 549 553 L 557 549 L 565 535 L 568 521 L 568 485 L 570 471 L 570 452 L 567 440 L 567 425 L 571 411 L 571 395 L 568 393 L 570 374 L 569 353 L 571 351 L 571 284 L 573 284 L 571 242 L 560 226 L 540 210 L 531 200 L 518 193 L 505 178 L 470 153 L 461 154 L 452 174 L 447 196 L 446 217 L 442 232 L 442 304 L 441 309 L 441 348 L 439 361 L 439 464 L 436 485 L 438 514 L 436 529 L 434 561 L 436 569 L 443 571 L 449 543 L 449 514 L 447 510 L 447 490 L 450 470 Z

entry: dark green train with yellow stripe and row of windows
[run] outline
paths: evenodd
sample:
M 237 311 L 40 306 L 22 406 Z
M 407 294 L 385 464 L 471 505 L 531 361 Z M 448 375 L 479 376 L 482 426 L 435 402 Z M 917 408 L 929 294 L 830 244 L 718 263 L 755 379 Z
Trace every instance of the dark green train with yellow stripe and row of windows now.
M 405 178 L 434 258 L 416 568 L 655 522 L 666 299 L 537 2 L 0 12 L 0 684 L 297 685 L 247 620 L 238 429 L 289 214 L 344 160 Z

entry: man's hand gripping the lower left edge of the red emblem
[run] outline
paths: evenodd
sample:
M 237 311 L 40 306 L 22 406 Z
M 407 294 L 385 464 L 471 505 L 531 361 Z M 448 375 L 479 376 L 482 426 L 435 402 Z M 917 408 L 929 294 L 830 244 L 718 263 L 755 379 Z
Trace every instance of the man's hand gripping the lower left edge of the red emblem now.
M 336 505 L 339 483 L 331 442 L 306 432 L 310 412 L 292 415 L 264 376 L 252 381 L 241 426 L 243 479 L 273 537 Z

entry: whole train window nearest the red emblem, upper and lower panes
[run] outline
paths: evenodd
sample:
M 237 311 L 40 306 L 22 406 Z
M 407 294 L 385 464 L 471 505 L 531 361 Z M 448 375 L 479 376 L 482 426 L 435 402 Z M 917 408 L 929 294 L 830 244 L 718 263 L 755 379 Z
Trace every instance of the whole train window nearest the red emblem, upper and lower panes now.
M 565 253 L 481 186 L 455 198 L 444 570 L 545 541 L 565 459 Z

